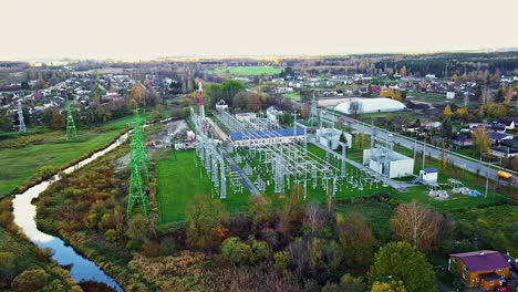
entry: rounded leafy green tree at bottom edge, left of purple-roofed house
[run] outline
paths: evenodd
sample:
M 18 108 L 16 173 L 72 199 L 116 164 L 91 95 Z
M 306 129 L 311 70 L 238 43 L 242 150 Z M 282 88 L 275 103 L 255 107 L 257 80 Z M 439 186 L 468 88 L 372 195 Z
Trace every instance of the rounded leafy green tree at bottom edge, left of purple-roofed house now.
M 397 292 L 404 291 L 402 285 L 407 292 L 437 291 L 435 273 L 424 253 L 402 241 L 390 242 L 377 251 L 369 280 L 371 283 L 395 281 Z

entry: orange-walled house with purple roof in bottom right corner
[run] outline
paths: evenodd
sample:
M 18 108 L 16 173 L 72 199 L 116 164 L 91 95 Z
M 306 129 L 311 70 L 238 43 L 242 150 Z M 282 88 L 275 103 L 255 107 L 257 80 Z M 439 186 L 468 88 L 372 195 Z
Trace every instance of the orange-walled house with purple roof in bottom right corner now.
M 498 251 L 453 253 L 448 265 L 462 275 L 468 286 L 495 289 L 509 278 L 510 264 Z

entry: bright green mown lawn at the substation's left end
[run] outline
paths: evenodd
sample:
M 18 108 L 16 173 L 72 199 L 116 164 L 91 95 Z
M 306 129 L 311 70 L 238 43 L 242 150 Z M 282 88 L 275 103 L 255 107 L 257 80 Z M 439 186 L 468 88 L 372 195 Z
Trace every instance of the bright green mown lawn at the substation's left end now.
M 195 159 L 195 150 L 185 150 L 176 153 L 176 160 L 156 161 L 160 223 L 183 220 L 186 206 L 197 194 L 213 195 L 210 179 L 199 163 L 196 167 Z M 217 194 L 214 196 L 218 197 Z M 227 210 L 246 210 L 248 199 L 249 191 L 246 188 L 242 194 L 234 194 L 227 180 L 227 199 L 224 200 Z

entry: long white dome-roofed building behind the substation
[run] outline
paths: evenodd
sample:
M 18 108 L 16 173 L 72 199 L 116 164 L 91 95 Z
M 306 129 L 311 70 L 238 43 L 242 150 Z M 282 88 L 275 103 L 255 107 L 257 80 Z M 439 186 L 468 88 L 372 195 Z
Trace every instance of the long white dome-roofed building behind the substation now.
M 370 113 L 387 113 L 387 112 L 398 112 L 404 111 L 406 106 L 395 100 L 392 98 L 348 98 L 343 103 L 338 104 L 334 107 L 334 111 L 351 114 L 351 104 L 353 107 L 358 108 L 358 113 L 360 114 L 370 114 Z M 353 109 L 354 111 L 354 109 Z

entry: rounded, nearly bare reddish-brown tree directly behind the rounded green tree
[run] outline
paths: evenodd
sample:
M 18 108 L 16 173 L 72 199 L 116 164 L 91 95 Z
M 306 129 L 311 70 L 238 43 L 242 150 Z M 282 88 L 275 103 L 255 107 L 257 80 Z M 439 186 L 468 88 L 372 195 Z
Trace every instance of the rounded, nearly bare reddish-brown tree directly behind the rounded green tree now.
M 397 206 L 391 227 L 398 240 L 407 241 L 418 250 L 427 250 L 438 240 L 442 221 L 439 215 L 412 201 Z

